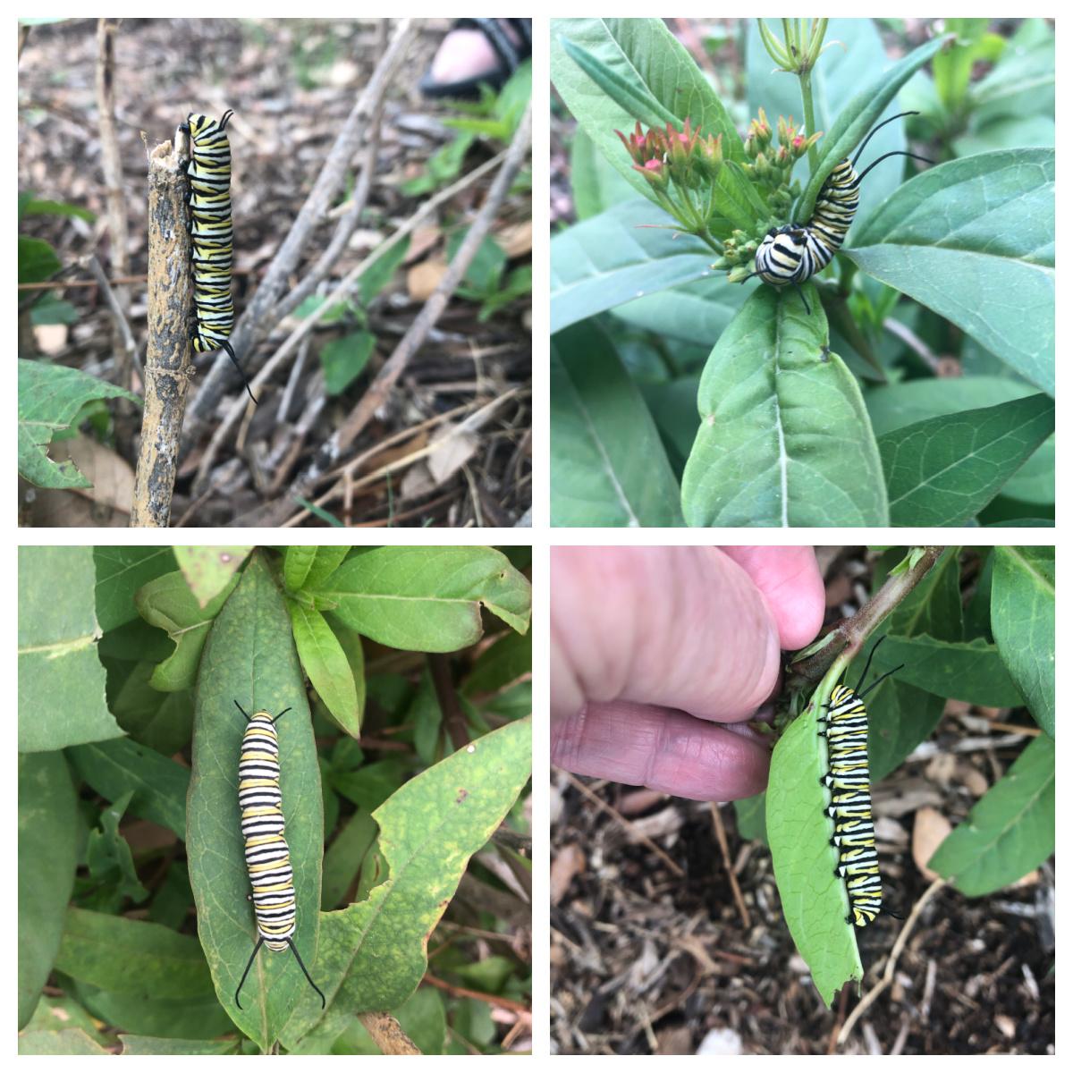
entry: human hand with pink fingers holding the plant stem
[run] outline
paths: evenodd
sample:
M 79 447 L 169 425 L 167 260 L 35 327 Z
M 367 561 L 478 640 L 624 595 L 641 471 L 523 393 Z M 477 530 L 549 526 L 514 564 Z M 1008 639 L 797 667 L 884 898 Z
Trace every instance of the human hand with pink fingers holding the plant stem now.
M 552 762 L 697 800 L 764 789 L 743 724 L 823 622 L 810 547 L 552 549 Z

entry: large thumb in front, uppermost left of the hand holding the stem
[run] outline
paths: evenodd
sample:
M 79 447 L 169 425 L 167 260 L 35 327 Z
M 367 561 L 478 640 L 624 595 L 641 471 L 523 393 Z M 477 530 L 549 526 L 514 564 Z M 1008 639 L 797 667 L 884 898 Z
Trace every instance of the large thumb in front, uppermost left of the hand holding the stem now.
M 767 602 L 718 549 L 553 548 L 553 717 L 627 700 L 744 720 L 778 672 Z

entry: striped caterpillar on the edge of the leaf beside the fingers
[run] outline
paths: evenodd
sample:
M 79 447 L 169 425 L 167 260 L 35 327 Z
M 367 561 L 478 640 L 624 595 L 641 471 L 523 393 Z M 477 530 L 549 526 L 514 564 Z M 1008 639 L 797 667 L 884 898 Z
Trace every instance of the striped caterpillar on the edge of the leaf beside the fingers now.
M 835 834 L 831 840 L 831 844 L 838 850 L 835 874 L 846 880 L 850 896 L 850 914 L 846 923 L 855 924 L 858 928 L 870 924 L 883 911 L 876 828 L 871 819 L 868 712 L 864 697 L 905 664 L 880 675 L 863 691 L 861 686 L 868 676 L 876 649 L 884 640 L 880 637 L 872 646 L 856 689 L 836 686 L 832 690 L 831 703 L 823 706 L 827 711 L 826 719 L 820 720 L 823 723 L 820 735 L 827 739 L 827 774 L 820 778 L 820 784 L 831 790 L 831 805 L 825 811 L 835 821 Z

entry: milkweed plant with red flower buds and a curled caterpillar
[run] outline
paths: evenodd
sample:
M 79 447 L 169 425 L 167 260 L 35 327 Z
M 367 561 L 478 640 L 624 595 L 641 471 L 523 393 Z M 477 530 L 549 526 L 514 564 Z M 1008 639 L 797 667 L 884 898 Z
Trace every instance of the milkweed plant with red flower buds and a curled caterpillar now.
M 660 19 L 553 20 L 554 524 L 1053 525 L 1054 36 L 982 21 L 760 21 L 745 104 Z

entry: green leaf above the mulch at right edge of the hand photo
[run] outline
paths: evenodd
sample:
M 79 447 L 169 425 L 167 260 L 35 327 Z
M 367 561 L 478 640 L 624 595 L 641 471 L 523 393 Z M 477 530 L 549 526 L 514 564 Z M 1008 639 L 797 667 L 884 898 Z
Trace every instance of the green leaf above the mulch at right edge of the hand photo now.
M 928 862 L 974 898 L 1016 882 L 1055 852 L 1055 743 L 1041 734 Z

